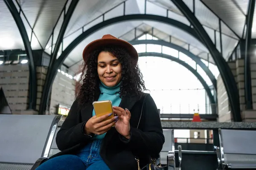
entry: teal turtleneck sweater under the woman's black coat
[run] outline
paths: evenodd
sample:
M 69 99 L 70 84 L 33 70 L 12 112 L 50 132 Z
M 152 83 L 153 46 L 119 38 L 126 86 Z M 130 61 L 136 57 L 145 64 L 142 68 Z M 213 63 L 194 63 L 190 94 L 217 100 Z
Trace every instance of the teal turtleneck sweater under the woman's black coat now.
M 115 87 L 108 87 L 104 85 L 102 82 L 99 84 L 100 95 L 98 101 L 103 100 L 111 100 L 113 106 L 119 106 L 121 102 L 121 98 L 119 97 L 118 92 L 120 91 L 120 83 Z M 93 116 L 95 116 L 95 111 L 93 109 Z M 102 135 L 95 135 L 93 139 L 103 139 L 105 134 Z

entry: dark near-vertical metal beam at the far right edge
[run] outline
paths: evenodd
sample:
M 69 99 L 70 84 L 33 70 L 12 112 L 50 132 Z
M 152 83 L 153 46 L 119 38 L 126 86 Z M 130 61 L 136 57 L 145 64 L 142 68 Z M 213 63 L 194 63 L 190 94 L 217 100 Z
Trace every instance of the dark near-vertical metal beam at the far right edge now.
M 244 58 L 244 92 L 245 92 L 245 104 L 246 109 L 253 108 L 252 102 L 252 84 L 250 75 L 250 54 L 251 54 L 251 39 L 252 39 L 252 26 L 253 26 L 253 14 L 255 8 L 255 0 L 250 0 L 248 6 L 248 14 L 246 17 L 246 36 L 245 36 L 245 58 Z

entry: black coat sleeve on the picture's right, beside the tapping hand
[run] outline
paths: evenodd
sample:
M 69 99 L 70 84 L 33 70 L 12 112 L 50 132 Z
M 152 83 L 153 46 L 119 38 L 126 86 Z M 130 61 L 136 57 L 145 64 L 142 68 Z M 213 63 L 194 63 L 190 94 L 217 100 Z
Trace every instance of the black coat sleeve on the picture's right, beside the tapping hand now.
M 131 127 L 130 139 L 125 138 L 125 140 L 122 136 L 121 140 L 128 144 L 132 150 L 151 156 L 157 155 L 162 150 L 165 138 L 157 106 L 149 94 L 145 99 L 142 118 L 145 122 L 142 130 Z

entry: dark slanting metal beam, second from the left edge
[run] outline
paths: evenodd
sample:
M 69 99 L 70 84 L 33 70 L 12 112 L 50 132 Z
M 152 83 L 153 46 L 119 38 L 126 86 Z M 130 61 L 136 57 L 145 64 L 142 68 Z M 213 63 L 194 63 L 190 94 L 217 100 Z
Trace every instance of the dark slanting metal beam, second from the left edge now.
M 72 2 L 70 3 L 70 6 L 68 8 L 67 14 L 64 14 L 64 21 L 62 23 L 60 32 L 58 34 L 58 38 L 56 40 L 55 48 L 53 50 L 53 53 L 52 53 L 52 56 L 50 59 L 50 63 L 49 63 L 49 67 L 48 67 L 48 71 L 47 71 L 44 88 L 43 88 L 43 93 L 42 93 L 42 98 L 41 98 L 41 103 L 39 106 L 39 114 L 44 114 L 44 111 L 46 109 L 46 105 L 47 105 L 47 101 L 48 101 L 48 97 L 49 97 L 49 93 L 50 93 L 49 89 L 51 88 L 51 85 L 52 85 L 52 81 L 50 81 L 51 79 L 49 79 L 49 77 L 52 74 L 56 74 L 56 70 L 52 69 L 52 65 L 56 62 L 56 57 L 57 57 L 61 42 L 63 40 L 65 31 L 67 29 L 67 25 L 70 21 L 72 14 L 73 14 L 73 11 L 76 8 L 78 1 L 79 0 L 72 0 Z

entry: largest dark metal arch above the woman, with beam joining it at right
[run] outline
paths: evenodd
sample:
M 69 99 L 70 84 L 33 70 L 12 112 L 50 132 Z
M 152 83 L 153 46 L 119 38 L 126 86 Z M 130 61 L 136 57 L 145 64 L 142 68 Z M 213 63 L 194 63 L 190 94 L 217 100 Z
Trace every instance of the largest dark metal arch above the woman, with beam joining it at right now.
M 183 1 L 175 1 L 172 0 L 175 5 L 180 9 L 180 11 L 184 14 L 185 17 L 189 20 L 191 23 L 191 26 L 187 26 L 186 24 L 183 24 L 177 20 L 173 20 L 168 17 L 158 16 L 158 15 L 152 15 L 152 14 L 125 14 L 125 8 L 123 12 L 123 16 L 111 18 L 109 20 L 105 20 L 105 13 L 101 16 L 95 18 L 95 20 L 102 18 L 102 23 L 98 23 L 91 28 L 84 31 L 84 26 L 87 26 L 88 24 L 92 23 L 94 20 L 90 21 L 86 25 L 82 26 L 78 30 L 81 30 L 82 33 L 76 37 L 73 42 L 71 42 L 67 48 L 62 52 L 60 57 L 52 64 L 52 66 L 49 68 L 51 70 L 51 74 L 47 77 L 47 83 L 45 86 L 45 89 L 47 91 L 44 91 L 44 98 L 42 98 L 42 102 L 46 104 L 47 100 L 47 94 L 49 93 L 49 88 L 53 82 L 53 79 L 56 75 L 56 72 L 58 68 L 61 66 L 61 64 L 64 62 L 65 58 L 70 54 L 70 52 L 84 39 L 86 39 L 91 34 L 95 33 L 96 31 L 99 31 L 102 28 L 105 28 L 107 26 L 110 26 L 115 23 L 120 23 L 124 21 L 130 21 L 130 20 L 150 20 L 150 21 L 157 21 L 160 23 L 169 24 L 172 26 L 175 26 L 177 28 L 180 28 L 181 30 L 187 32 L 188 34 L 192 35 L 196 39 L 198 39 L 202 44 L 204 44 L 208 49 L 210 54 L 212 55 L 219 71 L 221 74 L 221 77 L 223 78 L 225 88 L 227 90 L 228 97 L 230 99 L 230 105 L 231 105 L 231 111 L 233 113 L 234 121 L 241 121 L 241 115 L 240 115 L 240 105 L 239 105 L 239 94 L 236 87 L 236 81 L 233 77 L 233 74 L 227 65 L 227 62 L 225 62 L 224 58 L 221 56 L 220 52 L 216 49 L 215 45 L 213 44 L 212 40 L 209 38 L 207 32 L 204 30 L 202 25 L 199 23 L 199 21 L 196 19 L 195 15 L 189 10 L 189 8 L 186 6 Z M 125 7 L 125 2 L 124 2 Z M 77 31 L 78 31 L 77 30 Z M 41 102 L 41 104 L 42 104 Z M 42 107 L 46 107 L 46 105 L 43 104 Z M 44 109 L 41 109 L 41 111 L 44 111 Z

